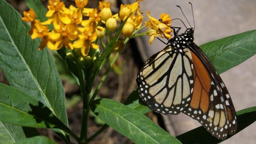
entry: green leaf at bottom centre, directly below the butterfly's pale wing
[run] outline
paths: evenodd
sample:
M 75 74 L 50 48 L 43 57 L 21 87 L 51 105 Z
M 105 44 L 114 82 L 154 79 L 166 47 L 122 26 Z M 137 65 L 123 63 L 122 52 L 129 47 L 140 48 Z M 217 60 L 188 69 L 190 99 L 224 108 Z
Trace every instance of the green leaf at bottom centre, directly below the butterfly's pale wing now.
M 137 144 L 179 144 L 180 142 L 154 124 L 148 117 L 110 99 L 98 99 L 92 111 L 114 130 Z

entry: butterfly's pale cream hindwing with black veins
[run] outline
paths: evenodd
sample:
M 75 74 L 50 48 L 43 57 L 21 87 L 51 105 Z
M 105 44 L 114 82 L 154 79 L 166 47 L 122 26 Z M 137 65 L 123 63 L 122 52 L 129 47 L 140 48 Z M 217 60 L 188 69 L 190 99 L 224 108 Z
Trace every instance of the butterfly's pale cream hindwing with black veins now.
M 180 49 L 181 50 L 181 49 Z M 154 54 L 137 75 L 139 95 L 152 111 L 178 114 L 185 110 L 193 92 L 190 50 L 171 46 Z

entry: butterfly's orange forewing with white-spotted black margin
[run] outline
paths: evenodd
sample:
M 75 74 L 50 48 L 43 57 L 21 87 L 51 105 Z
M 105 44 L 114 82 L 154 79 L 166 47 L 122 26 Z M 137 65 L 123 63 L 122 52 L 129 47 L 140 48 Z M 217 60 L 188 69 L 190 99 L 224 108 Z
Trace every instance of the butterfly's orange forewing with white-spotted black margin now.
M 213 136 L 225 139 L 237 128 L 235 108 L 222 79 L 194 43 L 189 45 L 194 64 L 194 92 L 183 112 L 196 119 Z

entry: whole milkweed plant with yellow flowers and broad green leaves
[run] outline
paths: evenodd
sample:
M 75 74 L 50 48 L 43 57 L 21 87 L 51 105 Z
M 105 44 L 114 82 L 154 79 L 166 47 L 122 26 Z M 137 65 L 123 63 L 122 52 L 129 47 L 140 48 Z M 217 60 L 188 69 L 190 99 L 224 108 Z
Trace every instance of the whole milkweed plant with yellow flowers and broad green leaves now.
M 147 34 L 151 44 L 156 37 L 172 37 L 171 17 L 162 13 L 160 22 L 147 12 L 149 20 L 144 22 L 139 7 L 142 1 L 121 4 L 119 12 L 113 14 L 107 1 L 99 2 L 96 9 L 86 7 L 88 0 L 75 0 L 75 6 L 69 8 L 60 0 L 49 0 L 46 10 L 41 1 L 26 0 L 30 10 L 21 17 L 6 1 L 0 0 L 0 67 L 9 82 L 0 84 L 0 143 L 54 144 L 35 129 L 48 128 L 67 144 L 71 143 L 70 137 L 86 144 L 109 126 L 138 144 L 221 142 L 203 127 L 176 138 L 168 134 L 144 116 L 150 110 L 141 102 L 137 90 L 123 104 L 95 98 L 129 39 Z M 148 29 L 141 32 L 144 27 Z M 255 33 L 255 30 L 244 32 L 200 47 L 222 73 L 256 53 Z M 216 50 L 216 46 L 222 49 Z M 80 135 L 68 127 L 63 85 L 49 50 L 57 50 L 80 87 L 83 104 Z M 112 53 L 114 57 L 109 62 Z M 107 70 L 92 91 L 95 78 L 106 64 Z M 90 111 L 105 124 L 89 136 Z M 256 120 L 255 113 L 256 107 L 237 112 L 238 132 Z

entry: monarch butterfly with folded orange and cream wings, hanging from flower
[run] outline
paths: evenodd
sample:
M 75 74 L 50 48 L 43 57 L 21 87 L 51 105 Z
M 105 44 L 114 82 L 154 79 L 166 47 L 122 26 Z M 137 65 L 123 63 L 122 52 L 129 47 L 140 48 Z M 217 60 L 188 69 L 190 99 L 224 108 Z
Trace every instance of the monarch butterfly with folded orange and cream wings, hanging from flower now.
M 193 28 L 182 34 L 178 34 L 180 28 L 176 32 L 177 27 L 171 28 L 170 44 L 152 55 L 137 74 L 139 96 L 152 111 L 183 112 L 214 137 L 226 139 L 237 128 L 229 92 L 210 60 L 193 43 Z

